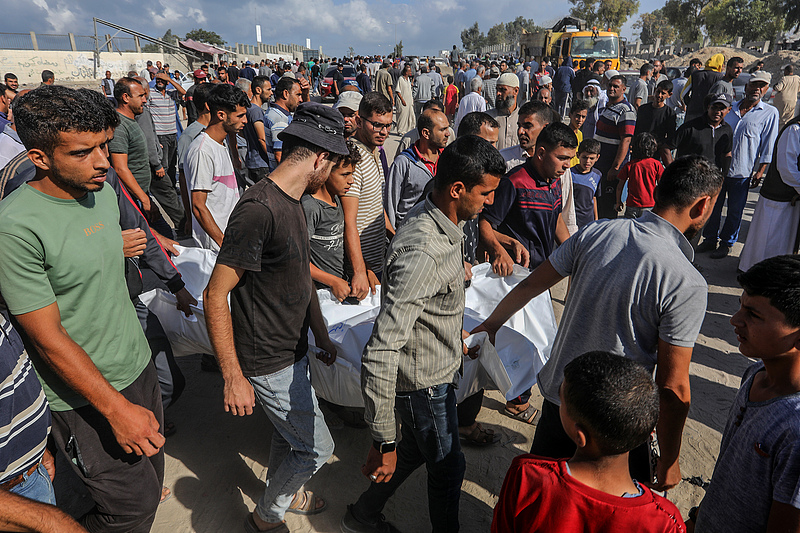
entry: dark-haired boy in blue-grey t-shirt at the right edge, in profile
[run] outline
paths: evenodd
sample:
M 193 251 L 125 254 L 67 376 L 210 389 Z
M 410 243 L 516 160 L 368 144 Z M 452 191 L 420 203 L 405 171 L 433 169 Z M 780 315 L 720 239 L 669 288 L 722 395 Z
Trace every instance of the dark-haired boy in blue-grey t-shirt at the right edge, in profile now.
M 722 433 L 711 486 L 686 525 L 714 531 L 800 531 L 800 257 L 739 274 L 731 318 L 748 368 Z

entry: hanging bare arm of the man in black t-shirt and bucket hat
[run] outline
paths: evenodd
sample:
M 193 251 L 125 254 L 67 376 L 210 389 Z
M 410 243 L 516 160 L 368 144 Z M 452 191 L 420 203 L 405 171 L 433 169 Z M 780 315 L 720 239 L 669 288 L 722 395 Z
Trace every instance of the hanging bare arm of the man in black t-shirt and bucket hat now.
M 233 343 L 233 321 L 228 307 L 228 294 L 244 276 L 241 268 L 232 268 L 220 263 L 214 266 L 208 286 L 203 291 L 203 305 L 211 346 L 219 361 L 219 369 L 225 380 L 223 389 L 225 412 L 235 416 L 253 414 L 256 396 L 253 386 L 242 374 Z

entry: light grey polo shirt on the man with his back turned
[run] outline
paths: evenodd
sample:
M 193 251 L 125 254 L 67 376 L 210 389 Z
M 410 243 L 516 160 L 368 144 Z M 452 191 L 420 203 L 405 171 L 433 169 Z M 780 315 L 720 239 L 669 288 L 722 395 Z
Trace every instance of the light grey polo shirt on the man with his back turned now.
M 539 372 L 542 395 L 559 404 L 564 367 L 605 350 L 652 371 L 658 340 L 692 347 L 706 312 L 708 285 L 692 266 L 694 252 L 678 229 L 645 212 L 581 228 L 550 257 L 572 276 L 550 360 Z

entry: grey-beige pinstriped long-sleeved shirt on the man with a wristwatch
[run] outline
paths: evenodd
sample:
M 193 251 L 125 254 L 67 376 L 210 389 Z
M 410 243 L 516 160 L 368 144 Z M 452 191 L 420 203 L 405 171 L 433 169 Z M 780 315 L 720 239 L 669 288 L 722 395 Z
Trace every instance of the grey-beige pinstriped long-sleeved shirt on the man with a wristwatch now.
M 389 245 L 381 309 L 361 358 L 372 437 L 396 437 L 396 392 L 453 383 L 461 367 L 464 234 L 430 200 L 414 206 Z

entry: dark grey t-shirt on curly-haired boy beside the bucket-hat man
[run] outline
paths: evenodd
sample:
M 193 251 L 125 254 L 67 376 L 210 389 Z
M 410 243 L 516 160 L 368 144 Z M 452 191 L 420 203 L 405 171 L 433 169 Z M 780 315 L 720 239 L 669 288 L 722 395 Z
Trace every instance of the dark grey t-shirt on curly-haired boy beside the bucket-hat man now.
M 338 197 L 336 205 L 318 200 L 310 194 L 300 199 L 306 214 L 311 262 L 315 267 L 344 279 L 344 211 Z M 326 285 L 316 283 L 317 288 Z

